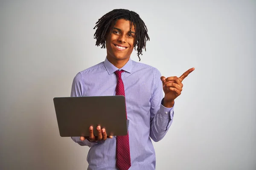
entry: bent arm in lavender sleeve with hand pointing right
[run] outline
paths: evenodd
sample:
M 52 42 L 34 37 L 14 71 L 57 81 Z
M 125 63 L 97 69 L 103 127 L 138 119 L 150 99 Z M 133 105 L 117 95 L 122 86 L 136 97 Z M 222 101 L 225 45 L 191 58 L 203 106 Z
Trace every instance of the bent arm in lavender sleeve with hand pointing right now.
M 154 80 L 155 82 L 155 90 L 151 99 L 151 129 L 150 129 L 150 137 L 155 141 L 159 141 L 163 139 L 169 127 L 172 124 L 172 119 L 174 115 L 173 107 L 174 100 L 177 96 L 180 96 L 183 84 L 182 81 L 185 79 L 195 68 L 190 68 L 185 73 L 183 73 L 180 77 L 161 77 L 161 81 L 159 79 L 160 72 L 155 69 L 154 70 Z M 163 88 L 162 88 L 163 87 Z M 164 98 L 163 91 L 164 91 Z M 160 109 L 157 111 L 159 106 L 157 105 L 157 101 L 162 99 Z M 164 107 L 165 106 L 165 107 Z

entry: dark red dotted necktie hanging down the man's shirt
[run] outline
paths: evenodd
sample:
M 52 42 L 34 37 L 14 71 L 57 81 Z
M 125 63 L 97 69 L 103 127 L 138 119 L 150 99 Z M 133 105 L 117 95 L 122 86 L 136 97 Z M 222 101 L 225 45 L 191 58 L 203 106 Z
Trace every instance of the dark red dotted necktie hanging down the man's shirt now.
M 124 72 L 115 71 L 117 76 L 116 95 L 125 96 L 124 83 L 122 82 L 121 74 Z M 126 113 L 127 119 L 127 113 Z M 129 134 L 125 136 L 116 136 L 116 166 L 119 170 L 128 170 L 131 167 Z

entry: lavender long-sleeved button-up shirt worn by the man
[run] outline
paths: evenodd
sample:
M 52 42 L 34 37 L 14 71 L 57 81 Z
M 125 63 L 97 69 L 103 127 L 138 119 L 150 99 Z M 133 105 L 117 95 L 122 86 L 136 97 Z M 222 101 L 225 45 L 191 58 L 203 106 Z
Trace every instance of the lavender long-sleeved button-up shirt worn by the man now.
M 129 170 L 154 170 L 156 159 L 151 139 L 163 139 L 172 124 L 173 108 L 165 108 L 161 74 L 156 68 L 129 60 L 122 68 L 116 68 L 106 58 L 93 67 L 79 72 L 73 80 L 71 96 L 114 96 L 116 94 L 116 70 L 124 70 L 131 167 Z M 97 110 L 97 108 L 95 108 Z M 89 146 L 88 170 L 116 170 L 116 136 L 103 142 L 73 141 Z

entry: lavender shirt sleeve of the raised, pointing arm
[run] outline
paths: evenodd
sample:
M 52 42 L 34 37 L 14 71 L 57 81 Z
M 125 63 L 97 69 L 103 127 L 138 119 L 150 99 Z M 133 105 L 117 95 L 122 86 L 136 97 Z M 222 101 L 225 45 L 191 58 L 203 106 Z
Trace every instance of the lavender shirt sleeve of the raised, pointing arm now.
M 174 106 L 166 108 L 163 104 L 163 84 L 160 79 L 160 71 L 154 69 L 154 92 L 151 97 L 150 108 L 150 134 L 154 142 L 158 142 L 166 135 L 169 127 L 172 125 L 174 116 Z

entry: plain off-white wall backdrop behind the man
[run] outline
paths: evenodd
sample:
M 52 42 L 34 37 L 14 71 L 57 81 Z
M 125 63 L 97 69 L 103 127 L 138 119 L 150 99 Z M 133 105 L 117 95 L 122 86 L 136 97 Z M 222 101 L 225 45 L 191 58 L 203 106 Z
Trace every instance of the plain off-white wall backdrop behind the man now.
M 93 27 L 114 8 L 148 26 L 141 62 L 164 76 L 195 67 L 154 143 L 157 170 L 255 170 L 254 0 L 0 0 L 0 169 L 87 169 L 88 147 L 59 136 L 52 99 L 105 59 Z

